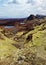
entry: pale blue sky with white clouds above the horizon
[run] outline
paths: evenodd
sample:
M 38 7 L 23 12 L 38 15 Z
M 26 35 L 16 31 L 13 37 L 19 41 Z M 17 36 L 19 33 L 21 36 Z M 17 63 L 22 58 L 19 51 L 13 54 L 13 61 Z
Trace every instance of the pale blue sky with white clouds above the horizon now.
M 46 0 L 0 0 L 0 18 L 46 15 Z

